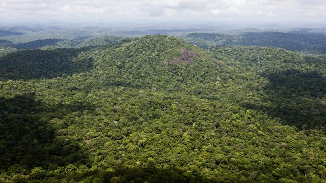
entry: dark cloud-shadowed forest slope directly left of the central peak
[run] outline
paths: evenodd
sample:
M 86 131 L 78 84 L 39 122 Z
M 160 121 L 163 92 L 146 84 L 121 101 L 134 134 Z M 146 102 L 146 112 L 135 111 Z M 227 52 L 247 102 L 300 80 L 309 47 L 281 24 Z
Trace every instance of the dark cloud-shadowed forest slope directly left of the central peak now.
M 0 79 L 52 78 L 85 72 L 92 57 L 79 59 L 80 49 L 24 50 L 0 57 Z M 74 58 L 73 58 L 74 57 Z

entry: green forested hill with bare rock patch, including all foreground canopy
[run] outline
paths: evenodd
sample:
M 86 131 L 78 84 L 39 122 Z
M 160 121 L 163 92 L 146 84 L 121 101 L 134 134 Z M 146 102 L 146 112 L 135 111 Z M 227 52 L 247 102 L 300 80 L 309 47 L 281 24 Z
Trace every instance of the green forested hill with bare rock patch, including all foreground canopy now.
M 3 182 L 326 178 L 325 57 L 155 35 L 0 65 Z

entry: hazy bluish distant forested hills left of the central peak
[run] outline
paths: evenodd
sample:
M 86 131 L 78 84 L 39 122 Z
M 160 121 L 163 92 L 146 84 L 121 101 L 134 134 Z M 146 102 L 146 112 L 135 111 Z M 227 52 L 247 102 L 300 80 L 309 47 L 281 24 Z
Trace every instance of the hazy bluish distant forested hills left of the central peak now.
M 6 33 L 6 34 L 1 34 Z M 111 46 L 125 38 L 105 28 L 0 26 L 0 55 L 22 49 L 85 48 Z

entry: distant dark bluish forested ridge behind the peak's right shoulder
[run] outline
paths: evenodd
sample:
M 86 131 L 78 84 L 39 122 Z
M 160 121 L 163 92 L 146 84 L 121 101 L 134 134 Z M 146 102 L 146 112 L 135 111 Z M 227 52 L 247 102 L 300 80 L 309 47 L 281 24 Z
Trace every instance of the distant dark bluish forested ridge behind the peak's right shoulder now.
M 192 33 L 184 38 L 202 48 L 216 46 L 253 45 L 279 47 L 292 51 L 326 54 L 326 35 L 311 32 L 260 32 L 240 35 Z

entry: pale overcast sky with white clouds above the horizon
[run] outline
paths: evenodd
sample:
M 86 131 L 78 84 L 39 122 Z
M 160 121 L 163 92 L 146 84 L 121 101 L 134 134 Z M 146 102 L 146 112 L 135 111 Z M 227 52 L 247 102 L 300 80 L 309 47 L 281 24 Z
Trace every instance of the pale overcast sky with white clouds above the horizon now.
M 326 0 L 0 0 L 0 23 L 326 21 Z

